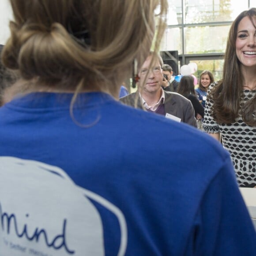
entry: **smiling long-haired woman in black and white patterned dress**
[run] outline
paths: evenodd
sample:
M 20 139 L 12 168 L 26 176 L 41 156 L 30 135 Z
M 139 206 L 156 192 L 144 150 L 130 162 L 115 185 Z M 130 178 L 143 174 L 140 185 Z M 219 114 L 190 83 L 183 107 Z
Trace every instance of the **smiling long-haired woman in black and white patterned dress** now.
M 204 131 L 230 152 L 241 187 L 256 186 L 256 8 L 230 27 L 222 80 L 211 84 Z

